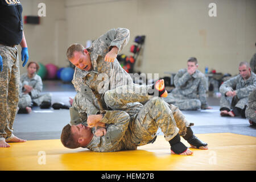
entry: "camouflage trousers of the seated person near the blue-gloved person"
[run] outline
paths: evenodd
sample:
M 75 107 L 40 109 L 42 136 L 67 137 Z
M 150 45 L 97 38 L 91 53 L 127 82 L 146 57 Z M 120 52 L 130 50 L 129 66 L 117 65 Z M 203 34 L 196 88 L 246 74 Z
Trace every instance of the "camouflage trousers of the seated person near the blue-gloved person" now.
M 31 98 L 29 94 L 23 94 L 19 98 L 19 108 L 26 108 L 27 106 L 31 106 L 31 102 L 35 102 L 38 106 L 42 104 L 43 101 L 51 101 L 52 97 L 50 93 L 42 94 L 39 97 Z

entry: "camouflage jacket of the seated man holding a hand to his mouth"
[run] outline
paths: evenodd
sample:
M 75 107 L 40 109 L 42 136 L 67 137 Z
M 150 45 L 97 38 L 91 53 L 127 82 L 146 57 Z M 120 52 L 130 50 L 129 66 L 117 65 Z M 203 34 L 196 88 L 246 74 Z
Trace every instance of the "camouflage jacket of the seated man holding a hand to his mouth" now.
M 174 77 L 175 89 L 171 94 L 179 99 L 199 98 L 201 105 L 207 107 L 207 78 L 199 70 L 189 75 L 187 69 L 180 69 Z

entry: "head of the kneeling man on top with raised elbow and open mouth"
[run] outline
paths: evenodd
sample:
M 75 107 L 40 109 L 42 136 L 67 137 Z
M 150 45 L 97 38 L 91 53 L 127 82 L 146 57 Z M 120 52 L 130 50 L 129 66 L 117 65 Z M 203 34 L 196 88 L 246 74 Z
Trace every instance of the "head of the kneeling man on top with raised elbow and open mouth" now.
M 92 70 L 90 54 L 81 44 L 72 44 L 69 46 L 67 50 L 67 57 L 75 67 L 85 71 Z

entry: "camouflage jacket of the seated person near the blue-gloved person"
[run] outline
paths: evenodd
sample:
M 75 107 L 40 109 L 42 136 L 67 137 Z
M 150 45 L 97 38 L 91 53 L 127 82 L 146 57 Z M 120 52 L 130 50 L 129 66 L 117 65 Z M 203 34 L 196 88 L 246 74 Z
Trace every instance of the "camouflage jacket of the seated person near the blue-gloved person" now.
M 30 85 L 32 86 L 32 90 L 31 90 L 31 98 L 37 98 L 40 96 L 40 93 L 43 90 L 43 81 L 42 78 L 38 75 L 35 75 L 30 78 L 27 76 L 27 73 L 23 73 L 20 76 L 20 95 L 22 95 L 22 92 L 24 92 L 24 85 Z

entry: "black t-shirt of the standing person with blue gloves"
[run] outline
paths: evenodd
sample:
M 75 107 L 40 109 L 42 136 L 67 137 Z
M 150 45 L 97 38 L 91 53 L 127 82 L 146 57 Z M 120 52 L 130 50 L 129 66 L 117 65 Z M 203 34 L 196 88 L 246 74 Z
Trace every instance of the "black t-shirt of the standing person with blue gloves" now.
M 19 0 L 0 0 L 0 44 L 18 45 L 22 40 L 22 5 Z

